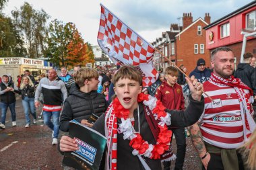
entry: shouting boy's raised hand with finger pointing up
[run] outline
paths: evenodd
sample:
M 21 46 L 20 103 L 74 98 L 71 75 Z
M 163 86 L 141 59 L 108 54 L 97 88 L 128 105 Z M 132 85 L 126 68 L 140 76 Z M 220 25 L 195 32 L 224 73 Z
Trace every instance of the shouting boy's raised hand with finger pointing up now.
M 191 76 L 190 79 L 185 77 L 189 89 L 191 91 L 191 96 L 194 100 L 201 101 L 201 96 L 203 93 L 203 85 L 195 79 L 195 76 Z

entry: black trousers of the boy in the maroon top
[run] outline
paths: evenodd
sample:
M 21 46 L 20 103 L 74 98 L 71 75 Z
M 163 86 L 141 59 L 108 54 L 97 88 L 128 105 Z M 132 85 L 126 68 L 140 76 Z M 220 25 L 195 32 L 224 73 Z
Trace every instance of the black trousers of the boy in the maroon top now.
M 174 169 L 183 169 L 185 154 L 186 154 L 186 137 L 185 128 L 171 128 L 172 136 L 174 134 L 177 144 L 177 159 Z M 170 170 L 170 161 L 164 161 L 164 170 Z

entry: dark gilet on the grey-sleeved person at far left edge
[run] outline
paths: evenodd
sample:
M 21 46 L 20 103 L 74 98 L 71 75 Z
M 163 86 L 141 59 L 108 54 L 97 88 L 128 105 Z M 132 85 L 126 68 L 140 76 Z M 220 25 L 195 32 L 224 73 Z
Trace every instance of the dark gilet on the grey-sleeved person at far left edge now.
M 11 80 L 11 77 L 8 76 L 8 79 L 9 79 L 8 83 L 5 83 L 4 81 L 0 83 L 1 102 L 6 104 L 14 103 L 16 101 L 15 93 L 13 93 L 13 91 L 5 92 L 5 89 L 7 89 L 7 87 L 12 87 L 14 89 L 14 92 L 18 93 L 18 89 L 16 85 L 13 83 L 13 81 Z

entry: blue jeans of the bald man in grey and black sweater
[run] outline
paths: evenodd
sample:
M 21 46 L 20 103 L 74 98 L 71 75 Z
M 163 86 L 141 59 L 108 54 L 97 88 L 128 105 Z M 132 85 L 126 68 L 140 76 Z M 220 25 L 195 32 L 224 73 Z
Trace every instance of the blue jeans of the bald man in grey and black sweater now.
M 44 124 L 46 124 L 51 130 L 53 130 L 53 138 L 58 138 L 59 136 L 59 114 L 61 111 L 55 112 L 42 112 L 44 117 Z M 53 116 L 53 122 L 51 122 L 51 117 Z

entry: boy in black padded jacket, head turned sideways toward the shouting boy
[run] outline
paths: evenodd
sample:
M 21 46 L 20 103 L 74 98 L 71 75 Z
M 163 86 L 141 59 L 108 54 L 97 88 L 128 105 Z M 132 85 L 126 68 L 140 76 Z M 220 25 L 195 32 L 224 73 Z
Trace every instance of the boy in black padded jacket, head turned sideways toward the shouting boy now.
M 74 74 L 75 84 L 71 86 L 65 100 L 60 120 L 60 129 L 69 131 L 69 121 L 77 120 L 92 127 L 94 119 L 106 111 L 104 95 L 97 93 L 98 73 L 94 69 L 80 69 Z

